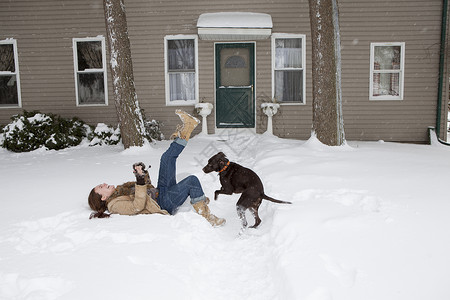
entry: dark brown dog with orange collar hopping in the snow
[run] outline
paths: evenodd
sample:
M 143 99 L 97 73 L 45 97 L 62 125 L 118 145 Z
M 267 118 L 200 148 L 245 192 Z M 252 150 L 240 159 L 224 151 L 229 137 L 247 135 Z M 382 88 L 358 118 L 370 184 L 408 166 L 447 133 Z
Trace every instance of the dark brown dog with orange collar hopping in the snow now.
M 273 199 L 264 194 L 264 187 L 261 179 L 252 170 L 239 164 L 230 162 L 223 152 L 219 152 L 208 160 L 208 164 L 203 168 L 203 172 L 219 172 L 220 190 L 214 192 L 214 200 L 217 200 L 219 194 L 231 195 L 233 193 L 242 193 L 236 209 L 242 222 L 242 227 L 247 227 L 245 210 L 250 209 L 255 217 L 255 224 L 251 228 L 256 228 L 261 223 L 258 215 L 258 209 L 263 199 L 276 203 L 292 204 L 287 201 Z

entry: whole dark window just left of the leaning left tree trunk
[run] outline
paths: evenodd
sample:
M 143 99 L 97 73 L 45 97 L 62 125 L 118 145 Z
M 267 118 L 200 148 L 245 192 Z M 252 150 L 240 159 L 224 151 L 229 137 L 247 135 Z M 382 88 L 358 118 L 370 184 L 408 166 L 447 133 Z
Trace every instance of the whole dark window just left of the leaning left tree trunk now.
M 73 39 L 77 105 L 108 104 L 105 38 Z

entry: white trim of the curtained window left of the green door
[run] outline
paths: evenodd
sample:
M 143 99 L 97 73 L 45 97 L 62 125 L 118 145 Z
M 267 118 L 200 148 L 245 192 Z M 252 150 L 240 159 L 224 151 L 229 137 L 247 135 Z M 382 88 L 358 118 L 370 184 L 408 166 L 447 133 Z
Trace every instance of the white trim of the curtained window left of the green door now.
M 169 40 L 194 40 L 195 51 L 195 99 L 193 100 L 173 100 L 170 101 L 170 84 L 169 84 L 169 67 L 168 67 L 168 53 L 167 53 L 167 41 Z M 164 76 L 165 76 L 165 89 L 166 89 L 166 105 L 167 106 L 191 106 L 198 103 L 199 99 L 199 83 L 198 83 L 198 36 L 197 35 L 166 35 L 164 37 Z

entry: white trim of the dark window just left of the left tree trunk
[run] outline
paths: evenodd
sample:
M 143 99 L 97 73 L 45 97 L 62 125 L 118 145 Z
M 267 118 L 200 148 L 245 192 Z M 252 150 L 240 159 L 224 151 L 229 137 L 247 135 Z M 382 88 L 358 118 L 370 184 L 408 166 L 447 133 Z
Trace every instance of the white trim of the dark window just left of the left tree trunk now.
M 78 71 L 78 55 L 77 55 L 77 42 L 101 42 L 102 43 L 102 65 L 103 68 L 101 69 L 89 69 L 85 71 Z M 108 72 L 106 71 L 106 46 L 105 46 L 105 37 L 104 36 L 97 36 L 97 37 L 87 37 L 87 38 L 73 38 L 72 39 L 72 48 L 73 48 L 73 70 L 74 70 L 74 77 L 75 77 L 75 100 L 77 106 L 107 106 L 108 105 Z M 104 81 L 104 87 L 105 87 L 105 103 L 95 103 L 95 104 L 80 104 L 79 98 L 78 98 L 78 73 L 93 73 L 93 72 L 103 72 L 103 81 Z

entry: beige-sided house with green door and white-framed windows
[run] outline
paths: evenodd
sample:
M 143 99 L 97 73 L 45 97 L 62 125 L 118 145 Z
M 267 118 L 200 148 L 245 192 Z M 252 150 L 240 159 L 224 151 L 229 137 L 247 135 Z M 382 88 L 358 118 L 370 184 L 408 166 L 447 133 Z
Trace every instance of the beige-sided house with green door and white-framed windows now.
M 347 140 L 425 143 L 436 125 L 445 138 L 446 2 L 339 0 Z M 174 110 L 194 113 L 199 102 L 214 106 L 209 133 L 262 133 L 261 104 L 276 99 L 274 134 L 310 137 L 308 0 L 125 5 L 139 103 L 166 136 Z M 105 37 L 102 0 L 1 1 L 0 124 L 40 110 L 116 125 Z

